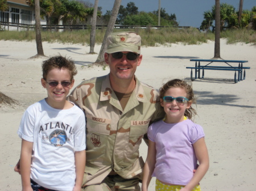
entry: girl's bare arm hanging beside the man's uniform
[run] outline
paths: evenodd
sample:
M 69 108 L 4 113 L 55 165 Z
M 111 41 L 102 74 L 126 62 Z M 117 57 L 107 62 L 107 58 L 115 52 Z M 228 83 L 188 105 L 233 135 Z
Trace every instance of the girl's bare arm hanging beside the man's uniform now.
M 148 140 L 147 159 L 143 169 L 142 191 L 147 191 L 148 185 L 150 184 L 151 175 L 155 168 L 155 157 L 155 142 Z

